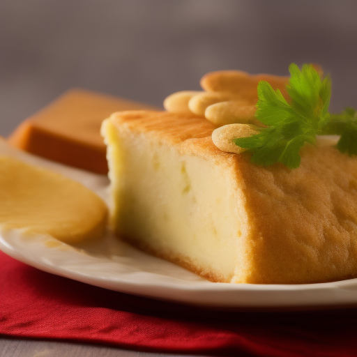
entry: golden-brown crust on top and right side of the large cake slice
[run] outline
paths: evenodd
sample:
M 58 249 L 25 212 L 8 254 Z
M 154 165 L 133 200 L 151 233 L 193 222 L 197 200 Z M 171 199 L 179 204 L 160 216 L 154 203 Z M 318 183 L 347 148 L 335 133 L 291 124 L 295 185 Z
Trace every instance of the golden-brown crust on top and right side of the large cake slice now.
M 167 112 L 121 112 L 112 123 L 154 135 L 185 154 L 234 169 L 248 214 L 248 273 L 237 268 L 234 282 L 302 284 L 357 278 L 357 158 L 332 146 L 307 145 L 301 166 L 261 167 L 250 154 L 220 151 L 206 119 Z M 211 281 L 225 281 L 185 257 L 130 243 L 185 266 Z M 223 279 L 223 280 L 222 280 Z

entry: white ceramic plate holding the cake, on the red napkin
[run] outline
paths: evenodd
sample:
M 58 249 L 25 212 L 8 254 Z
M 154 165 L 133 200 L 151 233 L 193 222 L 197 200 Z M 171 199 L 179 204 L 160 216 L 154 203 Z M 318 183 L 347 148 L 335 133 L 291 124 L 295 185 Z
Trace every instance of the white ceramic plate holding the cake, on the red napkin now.
M 108 180 L 10 149 L 0 153 L 48 167 L 75 179 L 106 199 Z M 77 246 L 23 231 L 0 231 L 0 249 L 49 273 L 105 289 L 191 305 L 225 309 L 317 309 L 357 305 L 357 279 L 323 284 L 258 285 L 208 282 L 168 261 L 152 257 L 110 234 L 97 243 Z

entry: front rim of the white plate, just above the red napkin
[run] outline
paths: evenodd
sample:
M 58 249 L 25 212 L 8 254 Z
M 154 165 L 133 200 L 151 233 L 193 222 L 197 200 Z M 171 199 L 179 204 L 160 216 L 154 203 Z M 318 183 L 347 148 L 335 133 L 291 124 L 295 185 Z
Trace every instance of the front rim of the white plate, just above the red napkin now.
M 21 234 L 20 234 L 21 235 Z M 63 243 L 65 244 L 65 243 Z M 33 266 L 34 268 L 38 268 L 41 271 L 45 271 L 47 273 L 52 273 L 55 275 L 60 275 L 65 278 L 70 278 L 73 280 L 77 280 L 79 282 L 84 282 L 86 284 L 92 284 L 96 287 L 101 287 L 104 289 L 110 289 L 113 291 L 119 291 L 126 294 L 133 294 L 136 296 L 144 296 L 146 298 L 154 298 L 162 301 L 170 301 L 173 303 L 182 303 L 184 305 L 195 305 L 201 307 L 211 307 L 218 309 L 229 309 L 229 310 L 319 310 L 319 309 L 331 309 L 331 308 L 348 308 L 348 307 L 357 307 L 357 278 L 350 280 L 340 280 L 337 282 L 323 282 L 317 284 L 230 284 L 230 283 L 215 283 L 204 281 L 205 284 L 197 287 L 197 284 L 200 282 L 192 282 L 192 284 L 181 285 L 178 284 L 165 284 L 163 289 L 163 284 L 158 282 L 147 282 L 146 284 L 142 284 L 142 282 L 130 281 L 130 280 L 119 280 L 116 281 L 116 288 L 108 286 L 111 285 L 112 280 L 108 280 L 107 278 L 100 279 L 83 273 L 81 271 L 70 270 L 68 268 L 56 267 L 54 264 L 48 263 L 48 257 L 44 257 L 47 259 L 47 264 L 43 260 L 31 259 L 31 257 L 24 255 L 24 252 L 19 252 L 15 246 L 6 238 L 6 234 L 0 233 L 0 249 L 10 257 L 17 259 L 18 261 L 22 261 L 22 263 L 27 264 L 29 266 Z M 56 249 L 56 248 L 46 248 L 46 249 Z M 136 248 L 132 248 L 136 249 Z M 66 254 L 66 253 L 64 253 Z M 80 252 L 77 252 L 80 254 Z M 143 253 L 146 254 L 146 253 Z M 149 255 L 148 255 L 149 256 Z M 96 259 L 96 257 L 92 257 Z M 158 258 L 155 258 L 158 259 Z M 110 260 L 110 259 L 108 259 Z M 162 260 L 162 259 L 161 259 Z M 146 274 L 153 274 L 147 273 Z M 109 284 L 108 284 L 109 283 Z M 333 294 L 339 289 L 344 289 L 352 286 L 354 289 L 352 291 L 355 292 L 354 300 L 343 302 L 340 300 L 330 301 L 329 303 L 321 304 L 319 301 L 310 301 L 307 296 L 305 300 L 300 301 L 300 303 L 287 303 L 284 305 L 276 304 L 276 303 L 232 303 L 231 300 L 227 303 L 225 301 L 200 301 L 200 296 L 203 294 L 326 294 L 326 292 L 333 292 Z M 159 289 L 160 291 L 157 294 L 148 293 L 147 289 L 150 287 L 151 289 Z M 162 295 L 162 290 L 164 295 Z M 171 292 L 169 296 L 167 296 L 167 291 Z M 172 293 L 184 292 L 185 296 L 181 296 L 180 298 L 173 298 Z M 166 293 L 166 294 L 165 294 Z

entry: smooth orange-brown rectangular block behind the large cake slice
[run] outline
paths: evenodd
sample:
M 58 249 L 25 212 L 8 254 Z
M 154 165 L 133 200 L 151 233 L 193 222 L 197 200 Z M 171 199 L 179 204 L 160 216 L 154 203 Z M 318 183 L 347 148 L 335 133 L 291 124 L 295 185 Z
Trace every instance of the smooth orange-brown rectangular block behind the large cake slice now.
M 8 142 L 35 155 L 98 174 L 107 173 L 100 125 L 112 112 L 153 109 L 122 98 L 71 89 L 26 119 Z

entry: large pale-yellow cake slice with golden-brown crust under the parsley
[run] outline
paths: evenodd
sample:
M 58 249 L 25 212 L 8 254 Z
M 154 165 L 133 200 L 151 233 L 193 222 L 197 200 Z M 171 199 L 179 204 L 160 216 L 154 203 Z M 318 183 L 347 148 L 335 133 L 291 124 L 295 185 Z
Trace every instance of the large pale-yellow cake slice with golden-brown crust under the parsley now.
M 102 124 L 112 227 L 213 282 L 357 278 L 357 158 L 305 146 L 301 166 L 220 151 L 194 114 L 132 111 Z

